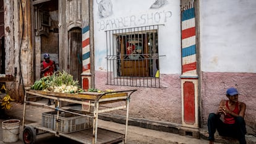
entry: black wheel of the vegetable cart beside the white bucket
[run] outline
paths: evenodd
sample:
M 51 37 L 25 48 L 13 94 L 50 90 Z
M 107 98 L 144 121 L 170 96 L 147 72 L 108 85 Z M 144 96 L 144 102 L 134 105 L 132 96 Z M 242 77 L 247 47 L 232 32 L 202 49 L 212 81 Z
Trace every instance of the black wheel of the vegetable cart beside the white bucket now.
M 33 127 L 27 126 L 23 130 L 23 142 L 25 144 L 33 144 L 36 141 L 36 130 Z

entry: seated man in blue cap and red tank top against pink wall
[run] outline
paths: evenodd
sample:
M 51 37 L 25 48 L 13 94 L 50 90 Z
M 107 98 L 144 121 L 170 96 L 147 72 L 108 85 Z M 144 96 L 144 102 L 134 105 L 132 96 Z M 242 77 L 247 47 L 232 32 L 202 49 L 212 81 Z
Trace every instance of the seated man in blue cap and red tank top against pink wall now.
M 213 144 L 216 129 L 221 136 L 237 138 L 240 144 L 246 143 L 244 121 L 246 105 L 238 101 L 238 95 L 236 88 L 229 88 L 226 91 L 228 100 L 221 100 L 218 112 L 209 114 L 208 139 L 210 144 Z M 220 119 L 222 114 L 224 122 Z

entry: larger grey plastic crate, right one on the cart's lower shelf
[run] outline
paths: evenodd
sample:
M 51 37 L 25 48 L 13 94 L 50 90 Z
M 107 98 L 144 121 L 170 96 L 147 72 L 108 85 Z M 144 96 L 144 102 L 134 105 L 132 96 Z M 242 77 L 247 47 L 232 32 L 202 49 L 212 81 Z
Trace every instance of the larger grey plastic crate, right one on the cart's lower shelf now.
M 80 114 L 86 114 L 92 116 L 88 112 L 77 112 Z M 54 116 L 57 119 L 57 115 Z M 58 120 L 58 132 L 61 133 L 72 133 L 78 132 L 80 130 L 90 129 L 93 125 L 93 118 L 80 116 L 77 114 L 71 114 L 69 112 L 64 112 L 59 114 Z M 54 130 L 56 130 L 56 121 L 54 121 Z

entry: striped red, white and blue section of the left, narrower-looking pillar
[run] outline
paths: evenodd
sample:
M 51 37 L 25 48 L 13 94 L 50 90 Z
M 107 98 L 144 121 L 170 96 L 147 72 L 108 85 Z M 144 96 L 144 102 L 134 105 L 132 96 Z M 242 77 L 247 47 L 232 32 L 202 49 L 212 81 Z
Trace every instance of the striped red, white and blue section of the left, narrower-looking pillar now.
M 83 72 L 90 72 L 90 29 L 88 25 L 82 29 L 82 58 Z

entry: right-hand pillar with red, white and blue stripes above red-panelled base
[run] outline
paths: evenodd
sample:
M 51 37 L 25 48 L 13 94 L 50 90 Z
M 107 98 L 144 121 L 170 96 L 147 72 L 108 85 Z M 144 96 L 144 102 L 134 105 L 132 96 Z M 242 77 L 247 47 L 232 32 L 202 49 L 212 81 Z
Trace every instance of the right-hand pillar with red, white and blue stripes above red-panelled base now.
M 182 125 L 198 129 L 198 75 L 194 0 L 184 0 L 182 4 Z

